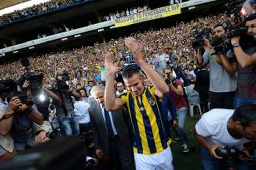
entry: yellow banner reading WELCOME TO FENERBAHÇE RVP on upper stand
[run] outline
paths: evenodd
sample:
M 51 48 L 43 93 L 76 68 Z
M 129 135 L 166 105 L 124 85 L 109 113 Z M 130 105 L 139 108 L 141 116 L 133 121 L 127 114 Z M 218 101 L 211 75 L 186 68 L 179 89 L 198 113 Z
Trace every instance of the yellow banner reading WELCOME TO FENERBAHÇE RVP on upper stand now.
M 175 4 L 140 12 L 138 14 L 129 15 L 115 19 L 115 27 L 123 27 L 145 21 L 150 21 L 158 18 L 168 17 L 176 14 L 181 14 L 181 5 Z

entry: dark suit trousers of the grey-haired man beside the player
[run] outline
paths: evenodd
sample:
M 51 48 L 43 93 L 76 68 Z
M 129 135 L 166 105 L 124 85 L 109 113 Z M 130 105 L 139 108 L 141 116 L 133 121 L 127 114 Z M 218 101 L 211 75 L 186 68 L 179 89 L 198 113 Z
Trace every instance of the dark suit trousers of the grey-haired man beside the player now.
M 110 169 L 135 170 L 132 150 L 128 150 L 118 135 L 109 139 Z

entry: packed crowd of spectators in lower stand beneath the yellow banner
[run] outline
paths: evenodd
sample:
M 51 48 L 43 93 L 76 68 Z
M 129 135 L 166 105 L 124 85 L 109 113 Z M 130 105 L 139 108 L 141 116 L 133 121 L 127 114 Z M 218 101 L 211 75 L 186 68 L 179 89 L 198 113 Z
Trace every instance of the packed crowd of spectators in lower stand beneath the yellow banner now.
M 131 36 L 142 42 L 142 51 L 146 60 L 156 69 L 161 69 L 159 55 L 168 56 L 176 53 L 181 58 L 182 68 L 187 72 L 186 68 L 189 65 L 195 67 L 194 61 L 196 61 L 196 52 L 191 46 L 193 39 L 190 35 L 191 29 L 213 26 L 220 23 L 224 17 L 225 14 L 207 16 L 187 23 L 180 22 L 170 28 L 133 33 Z M 63 70 L 68 71 L 75 84 L 79 82 L 84 84 L 89 80 L 100 81 L 99 71 L 103 66 L 103 56 L 110 50 L 114 52 L 116 58 L 120 57 L 122 51 L 129 52 L 124 45 L 123 38 L 111 39 L 109 42 L 95 43 L 94 46 L 30 57 L 30 68 L 31 70 L 45 70 L 48 82 L 55 77 L 55 73 Z M 24 71 L 19 61 L 6 63 L 1 65 L 0 78 L 17 79 Z

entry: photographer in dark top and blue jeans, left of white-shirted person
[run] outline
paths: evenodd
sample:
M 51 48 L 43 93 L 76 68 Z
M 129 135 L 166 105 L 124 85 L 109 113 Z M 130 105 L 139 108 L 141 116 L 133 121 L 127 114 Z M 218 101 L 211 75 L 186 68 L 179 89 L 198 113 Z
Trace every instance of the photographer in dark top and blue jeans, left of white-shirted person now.
M 69 88 L 62 74 L 58 74 L 56 76 L 54 92 L 61 99 L 61 102 L 53 100 L 53 104 L 56 107 L 56 116 L 60 125 L 61 135 L 78 135 L 79 125 L 74 119 L 74 104 L 71 96 L 79 98 L 80 95 L 76 91 Z

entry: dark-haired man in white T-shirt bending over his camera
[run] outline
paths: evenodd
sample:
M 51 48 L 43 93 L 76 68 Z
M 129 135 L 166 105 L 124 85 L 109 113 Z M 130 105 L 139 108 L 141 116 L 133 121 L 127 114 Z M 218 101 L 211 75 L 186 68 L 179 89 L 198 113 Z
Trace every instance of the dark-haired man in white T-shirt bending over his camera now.
M 212 109 L 205 113 L 194 129 L 194 137 L 202 146 L 203 170 L 220 169 L 225 165 L 225 160 L 229 161 L 226 162 L 226 166 L 229 166 L 226 168 L 248 169 L 245 162 L 237 157 L 250 157 L 249 153 L 255 149 L 255 142 L 250 143 L 256 139 L 255 130 L 256 105 L 241 106 L 236 110 Z M 242 149 L 243 152 L 238 151 L 238 154 L 236 152 L 230 155 L 227 151 L 226 157 L 223 157 L 225 154 L 219 150 L 227 147 Z

